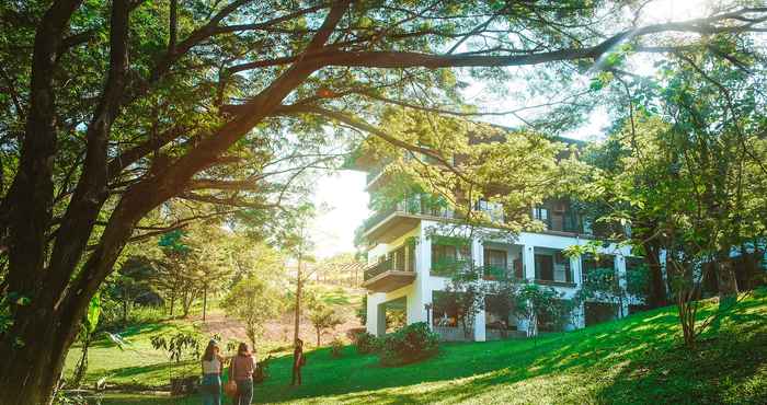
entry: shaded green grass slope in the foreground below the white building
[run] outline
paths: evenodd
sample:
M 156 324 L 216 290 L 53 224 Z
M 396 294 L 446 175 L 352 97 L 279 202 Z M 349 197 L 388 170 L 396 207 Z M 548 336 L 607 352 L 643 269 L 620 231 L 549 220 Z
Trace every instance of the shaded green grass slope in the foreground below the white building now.
M 701 313 L 714 310 L 709 303 Z M 427 361 L 378 366 L 353 347 L 341 359 L 309 352 L 305 385 L 288 387 L 289 357 L 255 390 L 259 403 L 753 403 L 767 397 L 767 290 L 739 304 L 696 350 L 679 346 L 666 308 L 539 339 L 444 345 Z M 103 404 L 194 404 L 121 396 Z

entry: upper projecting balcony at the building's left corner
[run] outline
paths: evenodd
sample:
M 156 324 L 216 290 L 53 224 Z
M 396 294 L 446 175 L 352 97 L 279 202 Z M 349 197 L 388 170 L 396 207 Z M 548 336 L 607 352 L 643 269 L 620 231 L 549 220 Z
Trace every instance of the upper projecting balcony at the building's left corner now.
M 364 223 L 368 241 L 391 243 L 412 230 L 424 218 L 457 218 L 451 209 L 427 201 L 428 198 L 413 196 L 387 209 L 379 210 Z

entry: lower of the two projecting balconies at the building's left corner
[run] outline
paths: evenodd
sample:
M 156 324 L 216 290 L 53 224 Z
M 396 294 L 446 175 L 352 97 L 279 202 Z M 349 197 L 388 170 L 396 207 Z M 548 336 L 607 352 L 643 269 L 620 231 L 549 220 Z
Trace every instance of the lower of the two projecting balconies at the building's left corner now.
M 365 269 L 363 287 L 375 292 L 389 292 L 415 279 L 415 245 L 402 245 L 386 259 Z

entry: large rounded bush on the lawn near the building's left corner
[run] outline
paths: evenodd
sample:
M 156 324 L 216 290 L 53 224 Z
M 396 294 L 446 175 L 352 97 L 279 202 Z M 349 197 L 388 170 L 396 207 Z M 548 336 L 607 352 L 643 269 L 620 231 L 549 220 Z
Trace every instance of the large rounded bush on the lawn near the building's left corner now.
M 381 338 L 378 350 L 384 366 L 401 366 L 432 357 L 439 350 L 438 335 L 417 322 Z

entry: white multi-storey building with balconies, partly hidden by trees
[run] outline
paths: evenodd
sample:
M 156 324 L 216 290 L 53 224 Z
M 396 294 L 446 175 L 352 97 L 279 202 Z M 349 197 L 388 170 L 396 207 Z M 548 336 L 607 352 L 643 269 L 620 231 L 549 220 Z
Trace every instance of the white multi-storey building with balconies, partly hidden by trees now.
M 369 192 L 375 192 L 386 182 L 380 169 L 360 164 L 359 161 L 355 167 L 369 172 Z M 387 331 L 387 311 L 404 311 L 408 324 L 428 322 L 445 339 L 465 337 L 462 328 L 457 325 L 459 315 L 448 314 L 434 305 L 435 296 L 443 293 L 450 279 L 443 266 L 445 259 L 450 263 L 471 259 L 480 268 L 501 268 L 517 278 L 551 286 L 563 293 L 563 299 L 573 298 L 583 280 L 583 273 L 596 265 L 588 257 L 566 257 L 562 250 L 592 240 L 591 227 L 570 210 L 566 201 L 536 208 L 531 215 L 546 223 L 547 230 L 522 232 L 510 243 L 507 238 L 488 238 L 491 233 L 488 229 L 488 232 L 474 232 L 483 235 L 483 240 L 474 238 L 466 241 L 467 247 L 458 247 L 443 243 L 449 238 L 440 234 L 445 234 L 445 224 L 451 222 L 456 223 L 450 228 L 451 234 L 455 234 L 456 229 L 461 227 L 460 222 L 454 220 L 446 209 L 425 207 L 417 197 L 387 211 L 375 212 L 364 224 L 364 236 L 369 242 L 369 267 L 365 270 L 363 282 L 368 291 L 367 331 L 382 335 Z M 627 262 L 629 265 L 636 263 L 630 257 L 630 248 L 605 246 L 599 255 L 599 267 L 611 265 L 619 275 L 618 279 L 625 282 Z M 639 302 L 633 300 L 631 303 Z M 622 309 L 604 302 L 581 305 L 573 312 L 565 328 L 579 328 L 629 313 L 629 302 L 622 305 Z M 492 310 L 483 310 L 477 314 L 469 338 L 480 342 L 499 338 L 502 335 L 497 326 L 502 325 L 500 321 L 507 325 L 503 327 L 503 336 L 507 335 L 506 329 L 524 332 L 527 328 L 524 321 L 513 315 L 501 320 Z

